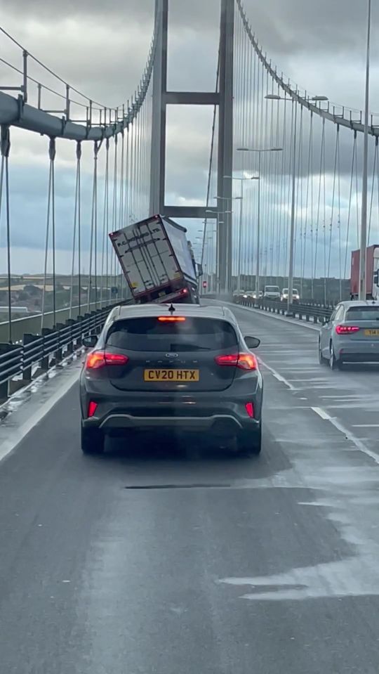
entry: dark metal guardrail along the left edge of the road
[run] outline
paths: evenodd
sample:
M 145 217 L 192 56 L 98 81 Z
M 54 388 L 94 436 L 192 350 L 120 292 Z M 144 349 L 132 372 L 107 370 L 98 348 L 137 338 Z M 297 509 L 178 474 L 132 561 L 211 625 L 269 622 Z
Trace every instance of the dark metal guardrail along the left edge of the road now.
M 22 344 L 0 343 L 0 403 L 79 349 L 86 335 L 100 332 L 113 307 L 91 311 L 76 320 L 68 318 L 54 328 L 44 328 L 41 335 L 27 333 Z

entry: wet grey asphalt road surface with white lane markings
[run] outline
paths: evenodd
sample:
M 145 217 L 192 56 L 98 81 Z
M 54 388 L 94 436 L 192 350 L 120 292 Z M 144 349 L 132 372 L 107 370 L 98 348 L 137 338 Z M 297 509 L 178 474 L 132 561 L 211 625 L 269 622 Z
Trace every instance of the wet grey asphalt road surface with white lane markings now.
M 1 674 L 378 674 L 378 370 L 236 313 L 262 339 L 260 458 L 84 457 L 74 384 L 0 463 Z

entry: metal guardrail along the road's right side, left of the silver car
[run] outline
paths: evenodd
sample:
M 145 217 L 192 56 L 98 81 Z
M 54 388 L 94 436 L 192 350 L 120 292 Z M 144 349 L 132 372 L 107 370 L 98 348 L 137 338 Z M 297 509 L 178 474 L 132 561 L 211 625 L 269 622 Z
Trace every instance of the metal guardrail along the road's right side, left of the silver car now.
M 325 306 L 324 304 L 303 304 L 302 302 L 293 302 L 288 312 L 287 302 L 281 302 L 279 299 L 253 299 L 252 297 L 234 297 L 235 304 L 242 306 L 251 306 L 253 309 L 262 309 L 270 313 L 281 313 L 282 316 L 292 316 L 299 320 L 305 320 L 307 323 L 324 323 L 331 317 L 334 306 Z

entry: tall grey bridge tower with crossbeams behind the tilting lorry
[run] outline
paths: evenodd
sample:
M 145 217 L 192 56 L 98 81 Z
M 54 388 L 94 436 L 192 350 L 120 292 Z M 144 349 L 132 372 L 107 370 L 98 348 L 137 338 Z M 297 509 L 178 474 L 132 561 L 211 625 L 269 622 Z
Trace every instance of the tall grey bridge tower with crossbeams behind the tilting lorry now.
M 220 74 L 218 92 L 168 91 L 168 5 L 169 0 L 156 0 L 155 20 L 159 27 L 157 54 L 154 63 L 152 173 L 150 212 L 173 218 L 205 218 L 206 206 L 173 206 L 166 204 L 166 112 L 168 105 L 218 106 L 218 205 L 215 217 L 232 210 L 233 170 L 233 46 L 234 0 L 221 0 Z M 229 177 L 225 177 L 229 176 Z M 225 206 L 226 205 L 226 206 Z M 221 292 L 230 290 L 232 276 L 232 215 L 218 221 L 217 236 L 218 285 Z

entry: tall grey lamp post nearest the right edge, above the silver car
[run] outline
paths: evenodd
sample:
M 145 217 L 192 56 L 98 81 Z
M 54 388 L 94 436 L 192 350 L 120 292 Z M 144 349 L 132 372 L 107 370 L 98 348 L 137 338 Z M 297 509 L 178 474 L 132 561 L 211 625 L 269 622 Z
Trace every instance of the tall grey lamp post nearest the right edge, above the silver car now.
M 368 105 L 370 103 L 370 37 L 371 0 L 368 0 L 366 44 L 366 89 L 364 101 L 364 164 L 362 176 L 361 252 L 359 255 L 359 299 L 366 299 L 366 247 L 367 247 L 367 174 L 368 174 Z

